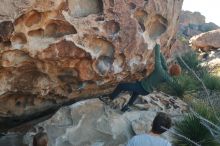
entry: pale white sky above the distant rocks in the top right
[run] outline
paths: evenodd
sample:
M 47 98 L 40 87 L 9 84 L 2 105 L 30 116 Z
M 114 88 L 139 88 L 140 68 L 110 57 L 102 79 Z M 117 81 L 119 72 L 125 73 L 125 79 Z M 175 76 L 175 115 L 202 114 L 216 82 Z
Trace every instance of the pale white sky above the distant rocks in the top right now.
M 206 22 L 220 26 L 220 0 L 184 0 L 183 10 L 198 11 L 206 17 Z

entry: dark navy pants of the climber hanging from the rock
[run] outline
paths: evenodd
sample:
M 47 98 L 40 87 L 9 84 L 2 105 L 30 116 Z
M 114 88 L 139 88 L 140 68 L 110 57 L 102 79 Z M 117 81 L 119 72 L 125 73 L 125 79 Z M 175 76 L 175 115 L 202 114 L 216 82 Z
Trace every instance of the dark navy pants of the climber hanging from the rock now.
M 122 92 L 122 91 L 129 91 L 132 93 L 130 100 L 128 101 L 129 106 L 133 105 L 135 100 L 137 99 L 138 95 L 148 95 L 149 93 L 144 90 L 144 88 L 141 86 L 140 82 L 135 82 L 135 83 L 120 83 L 118 86 L 115 88 L 112 94 L 110 94 L 110 97 L 112 100 L 117 98 L 117 96 Z

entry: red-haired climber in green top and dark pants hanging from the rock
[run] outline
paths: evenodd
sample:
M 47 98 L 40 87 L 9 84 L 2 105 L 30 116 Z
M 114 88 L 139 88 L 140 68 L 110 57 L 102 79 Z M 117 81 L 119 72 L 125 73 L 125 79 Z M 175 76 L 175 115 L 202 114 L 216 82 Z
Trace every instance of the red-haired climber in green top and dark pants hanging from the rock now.
M 177 88 L 179 85 L 168 73 L 168 67 L 164 56 L 162 53 L 160 53 L 159 44 L 156 44 L 154 47 L 154 56 L 154 71 L 149 76 L 143 78 L 141 81 L 136 81 L 135 83 L 119 83 L 111 94 L 101 96 L 99 99 L 104 103 L 109 104 L 114 99 L 116 99 L 122 91 L 130 91 L 132 92 L 131 98 L 129 99 L 128 103 L 121 109 L 121 111 L 125 112 L 129 109 L 129 106 L 133 105 L 138 95 L 150 94 L 153 92 L 155 87 L 162 82 L 167 82 L 168 85 L 174 89 Z M 177 70 L 177 74 L 171 75 L 179 75 L 181 72 L 180 67 L 177 64 L 175 64 L 174 67 L 174 70 Z

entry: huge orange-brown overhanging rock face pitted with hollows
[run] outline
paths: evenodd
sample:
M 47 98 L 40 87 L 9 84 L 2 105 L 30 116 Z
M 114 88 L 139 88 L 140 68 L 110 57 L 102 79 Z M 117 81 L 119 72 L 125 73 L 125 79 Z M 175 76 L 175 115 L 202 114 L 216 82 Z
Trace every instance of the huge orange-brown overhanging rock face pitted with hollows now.
M 176 33 L 183 0 L 3 0 L 0 116 L 35 114 L 111 92 L 152 71 L 152 48 Z

